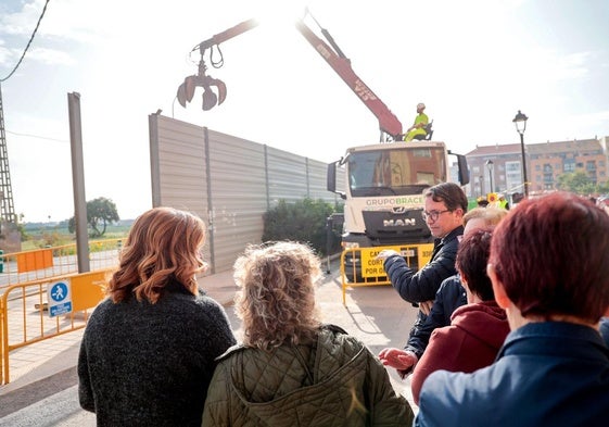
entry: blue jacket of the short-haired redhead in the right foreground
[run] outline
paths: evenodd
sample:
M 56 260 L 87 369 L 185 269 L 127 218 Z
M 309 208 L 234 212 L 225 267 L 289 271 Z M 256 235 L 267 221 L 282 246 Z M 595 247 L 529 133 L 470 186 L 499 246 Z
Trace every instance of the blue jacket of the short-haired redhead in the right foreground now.
M 415 426 L 606 426 L 609 349 L 588 326 L 526 324 L 489 367 L 437 371 L 424 381 Z

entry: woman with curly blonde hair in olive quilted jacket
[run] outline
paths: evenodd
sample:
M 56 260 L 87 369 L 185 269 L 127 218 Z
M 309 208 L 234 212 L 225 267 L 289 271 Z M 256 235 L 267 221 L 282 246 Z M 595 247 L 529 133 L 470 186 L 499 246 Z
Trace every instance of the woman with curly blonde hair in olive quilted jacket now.
M 234 263 L 243 342 L 219 357 L 203 426 L 402 426 L 413 422 L 380 361 L 319 319 L 320 261 L 305 244 L 246 249 Z

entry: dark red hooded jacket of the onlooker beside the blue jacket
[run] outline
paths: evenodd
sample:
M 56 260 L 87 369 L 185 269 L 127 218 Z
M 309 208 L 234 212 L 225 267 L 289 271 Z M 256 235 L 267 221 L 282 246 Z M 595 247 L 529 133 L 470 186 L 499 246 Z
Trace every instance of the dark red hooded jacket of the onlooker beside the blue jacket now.
M 472 373 L 491 365 L 509 334 L 506 312 L 495 301 L 467 304 L 435 329 L 410 378 L 415 403 L 426 378 L 434 371 Z

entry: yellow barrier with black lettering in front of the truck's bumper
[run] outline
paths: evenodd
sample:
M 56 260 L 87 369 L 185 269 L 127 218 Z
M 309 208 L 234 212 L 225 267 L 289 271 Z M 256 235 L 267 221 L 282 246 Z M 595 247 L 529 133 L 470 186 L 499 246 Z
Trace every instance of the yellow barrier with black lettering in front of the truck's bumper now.
M 391 285 L 383 268 L 383 260 L 377 255 L 384 249 L 393 249 L 404 256 L 406 264 L 418 271 L 433 253 L 433 243 L 398 244 L 373 248 L 345 249 L 341 253 L 341 282 L 343 305 L 346 305 L 346 289 L 358 286 Z

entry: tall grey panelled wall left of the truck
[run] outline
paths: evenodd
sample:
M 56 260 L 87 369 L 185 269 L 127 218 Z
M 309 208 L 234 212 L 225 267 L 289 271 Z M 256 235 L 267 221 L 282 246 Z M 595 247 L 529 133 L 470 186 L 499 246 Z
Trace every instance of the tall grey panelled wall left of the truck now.
M 156 114 L 149 130 L 152 204 L 205 221 L 208 274 L 232 268 L 248 243 L 261 242 L 263 214 L 279 200 L 340 200 L 326 190 L 323 162 Z

